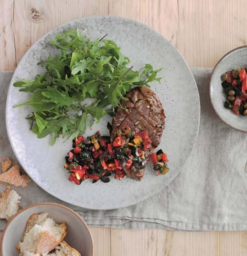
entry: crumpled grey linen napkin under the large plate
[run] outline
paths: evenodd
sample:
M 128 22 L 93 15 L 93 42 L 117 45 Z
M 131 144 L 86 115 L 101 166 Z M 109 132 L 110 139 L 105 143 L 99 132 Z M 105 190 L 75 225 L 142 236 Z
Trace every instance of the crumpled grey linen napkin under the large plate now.
M 62 203 L 94 226 L 247 230 L 247 134 L 229 128 L 212 109 L 208 95 L 212 69 L 193 68 L 192 72 L 201 100 L 198 138 L 181 173 L 159 194 L 130 207 L 89 211 L 64 203 L 31 182 L 27 188 L 13 188 L 22 196 L 21 207 L 38 202 Z M 0 136 L 3 138 L 0 140 L 0 156 L 2 159 L 9 156 L 17 163 L 9 145 L 4 120 L 5 100 L 12 74 L 0 72 Z M 0 229 L 5 224 L 5 221 L 0 221 Z

